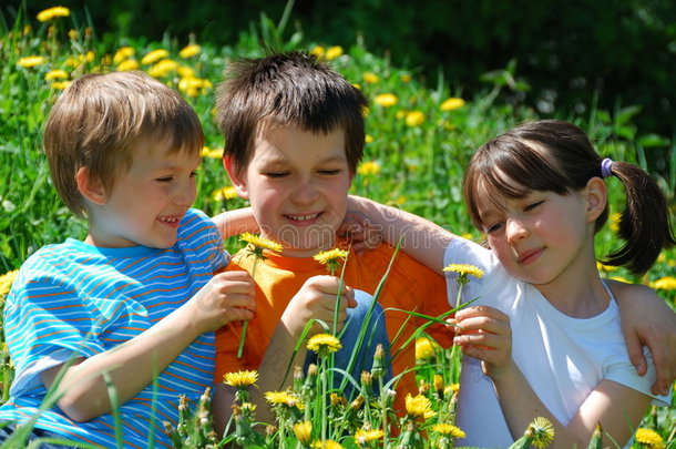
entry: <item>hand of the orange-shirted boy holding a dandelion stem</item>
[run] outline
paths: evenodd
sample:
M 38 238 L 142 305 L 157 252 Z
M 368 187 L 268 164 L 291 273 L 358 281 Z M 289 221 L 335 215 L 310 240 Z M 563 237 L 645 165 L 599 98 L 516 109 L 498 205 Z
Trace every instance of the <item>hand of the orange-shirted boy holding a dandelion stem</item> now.
M 303 284 L 281 315 L 281 322 L 295 338 L 300 336 L 305 325 L 313 318 L 329 326 L 334 323 L 338 283 L 339 279 L 335 276 L 314 276 Z M 355 292 L 344 285 L 338 310 L 338 328 L 342 327 L 347 317 L 347 308 L 356 306 Z M 322 331 L 322 327 L 316 323 L 309 335 L 320 331 Z

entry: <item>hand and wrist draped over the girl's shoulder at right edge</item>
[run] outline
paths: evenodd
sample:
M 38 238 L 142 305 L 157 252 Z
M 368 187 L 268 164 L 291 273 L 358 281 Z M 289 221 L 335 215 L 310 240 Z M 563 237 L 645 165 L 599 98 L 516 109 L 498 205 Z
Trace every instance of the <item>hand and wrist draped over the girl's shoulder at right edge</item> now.
M 617 299 L 629 358 L 639 375 L 647 370 L 642 346 L 653 355 L 657 378 L 653 394 L 667 395 L 676 378 L 676 313 L 644 285 L 608 280 Z

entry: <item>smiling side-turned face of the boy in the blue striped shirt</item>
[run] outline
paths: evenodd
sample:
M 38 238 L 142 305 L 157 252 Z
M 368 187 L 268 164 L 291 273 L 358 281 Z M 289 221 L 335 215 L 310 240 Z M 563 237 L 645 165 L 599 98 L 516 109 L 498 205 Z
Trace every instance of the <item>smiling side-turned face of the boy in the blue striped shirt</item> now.
M 102 247 L 168 248 L 176 243 L 178 222 L 195 201 L 199 154 L 170 153 L 162 141 L 144 139 L 133 155 L 129 171 L 116 175 L 111 191 L 90 207 L 86 242 Z

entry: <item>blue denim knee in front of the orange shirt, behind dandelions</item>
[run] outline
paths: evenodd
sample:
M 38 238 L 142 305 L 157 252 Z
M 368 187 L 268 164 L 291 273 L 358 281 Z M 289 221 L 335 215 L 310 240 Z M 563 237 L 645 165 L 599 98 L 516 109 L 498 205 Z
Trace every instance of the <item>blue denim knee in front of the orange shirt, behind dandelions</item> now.
M 386 384 L 392 378 L 392 364 L 390 360 L 390 339 L 387 335 L 387 329 L 385 328 L 385 315 L 380 304 L 376 304 L 373 307 L 372 315 L 366 326 L 366 334 L 361 348 L 357 351 L 356 363 L 351 369 L 348 369 L 352 351 L 357 350 L 361 326 L 366 322 L 369 308 L 373 303 L 373 297 L 361 290 L 355 290 L 355 299 L 357 300 L 357 307 L 348 308 L 347 310 L 347 318 L 342 327 L 344 333 L 340 336 L 340 344 L 342 347 L 335 354 L 334 366 L 348 371 L 350 377 L 359 385 L 361 371 L 371 371 L 376 347 L 378 344 L 381 344 L 382 349 L 385 350 L 383 365 L 386 371 L 383 384 Z M 307 368 L 310 364 L 317 364 L 317 355 L 313 351 L 308 351 L 305 358 L 305 373 L 307 373 Z M 342 380 L 344 376 L 336 371 L 334 376 L 334 386 L 340 386 Z M 377 384 L 373 382 L 375 390 L 377 390 L 376 385 Z M 346 398 L 350 398 L 352 389 L 354 385 L 348 380 L 344 390 Z

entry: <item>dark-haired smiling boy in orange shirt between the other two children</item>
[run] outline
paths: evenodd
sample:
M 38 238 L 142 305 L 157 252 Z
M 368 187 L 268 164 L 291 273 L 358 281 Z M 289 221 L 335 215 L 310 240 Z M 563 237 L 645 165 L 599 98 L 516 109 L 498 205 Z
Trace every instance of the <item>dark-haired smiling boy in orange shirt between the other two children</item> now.
M 336 283 L 313 277 L 325 273 L 313 255 L 337 245 L 348 247 L 336 232 L 346 217 L 348 190 L 363 153 L 366 106 L 358 89 L 310 54 L 273 54 L 227 68 L 216 101 L 216 121 L 225 136 L 224 167 L 238 194 L 249 200 L 262 234 L 281 243 L 284 251 L 257 265 L 257 313 L 248 326 L 244 357 L 236 357 L 238 323 L 217 333 L 217 395 L 231 394 L 218 382 L 225 373 L 239 369 L 277 373 L 262 379 L 255 391 L 278 389 L 300 329 L 313 316 L 308 304 L 315 314 L 330 316 Z M 356 210 L 361 206 L 358 202 Z M 392 253 L 389 245 L 361 256 L 350 251 L 346 284 L 373 294 Z M 250 271 L 252 264 L 250 258 L 235 256 L 231 265 Z M 319 300 L 299 302 L 293 295 L 301 286 L 313 287 Z M 655 322 L 654 312 L 664 307 L 656 295 L 636 297 L 633 292 L 618 292 L 629 353 L 645 369 L 641 341 L 647 343 L 658 374 L 654 388 L 664 388 L 676 371 L 668 350 L 676 340 L 674 329 L 669 322 Z M 399 253 L 379 302 L 392 343 L 392 371 L 401 376 L 396 401 L 401 412 L 406 396 L 417 394 L 414 346 L 402 344 L 427 322 L 396 309 L 429 316 L 448 312 L 445 282 L 441 273 Z M 442 326 L 427 331 L 444 347 L 452 341 Z

